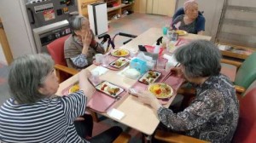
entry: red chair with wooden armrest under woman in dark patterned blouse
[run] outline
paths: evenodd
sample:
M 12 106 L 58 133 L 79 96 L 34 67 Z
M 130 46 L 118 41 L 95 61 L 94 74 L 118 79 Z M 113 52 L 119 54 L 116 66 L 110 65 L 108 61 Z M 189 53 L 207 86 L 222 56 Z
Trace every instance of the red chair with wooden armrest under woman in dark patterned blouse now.
M 240 115 L 236 132 L 231 142 L 256 142 L 256 80 L 248 87 L 246 94 L 240 100 Z M 193 142 L 204 143 L 205 140 L 195 139 L 183 134 L 175 134 L 156 130 L 154 138 L 166 142 Z

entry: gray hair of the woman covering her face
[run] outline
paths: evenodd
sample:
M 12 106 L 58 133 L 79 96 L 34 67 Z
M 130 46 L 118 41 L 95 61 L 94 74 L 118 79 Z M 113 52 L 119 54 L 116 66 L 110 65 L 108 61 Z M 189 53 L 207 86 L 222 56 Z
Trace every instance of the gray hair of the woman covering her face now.
M 88 21 L 87 18 L 85 18 L 82 15 L 76 15 L 73 16 L 70 20 L 69 20 L 69 26 L 71 28 L 71 31 L 73 33 L 73 35 L 76 35 L 74 31 L 79 31 L 82 29 L 82 22 L 83 21 Z

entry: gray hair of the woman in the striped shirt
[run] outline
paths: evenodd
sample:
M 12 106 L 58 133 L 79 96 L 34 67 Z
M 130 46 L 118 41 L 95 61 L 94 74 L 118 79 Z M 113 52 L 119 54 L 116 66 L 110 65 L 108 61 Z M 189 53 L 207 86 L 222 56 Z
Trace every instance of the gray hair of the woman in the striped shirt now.
M 19 104 L 31 104 L 45 98 L 38 89 L 53 70 L 54 61 L 49 54 L 26 54 L 15 59 L 9 70 L 9 90 Z

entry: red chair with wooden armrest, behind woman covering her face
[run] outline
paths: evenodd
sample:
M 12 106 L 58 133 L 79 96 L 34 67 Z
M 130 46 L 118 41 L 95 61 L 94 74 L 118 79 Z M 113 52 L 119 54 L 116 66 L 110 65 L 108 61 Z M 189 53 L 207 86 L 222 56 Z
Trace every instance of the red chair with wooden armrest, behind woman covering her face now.
M 67 62 L 64 57 L 64 43 L 69 36 L 70 35 L 60 37 L 46 46 L 49 54 L 55 61 L 55 71 L 60 82 L 78 73 L 77 70 L 67 67 Z

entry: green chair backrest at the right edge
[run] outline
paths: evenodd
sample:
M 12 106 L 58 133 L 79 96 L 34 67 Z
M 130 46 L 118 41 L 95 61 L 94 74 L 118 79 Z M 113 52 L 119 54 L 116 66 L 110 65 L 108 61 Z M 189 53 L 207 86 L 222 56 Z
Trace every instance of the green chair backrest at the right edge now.
M 241 67 L 236 72 L 235 85 L 239 85 L 247 89 L 256 79 L 256 52 L 251 54 L 244 60 Z

